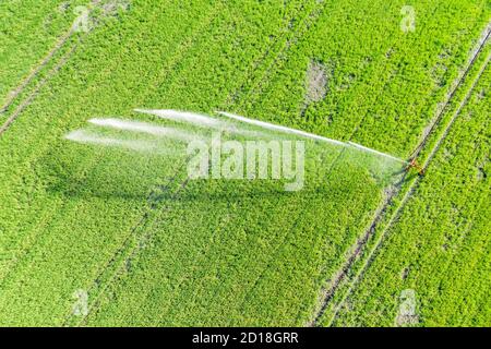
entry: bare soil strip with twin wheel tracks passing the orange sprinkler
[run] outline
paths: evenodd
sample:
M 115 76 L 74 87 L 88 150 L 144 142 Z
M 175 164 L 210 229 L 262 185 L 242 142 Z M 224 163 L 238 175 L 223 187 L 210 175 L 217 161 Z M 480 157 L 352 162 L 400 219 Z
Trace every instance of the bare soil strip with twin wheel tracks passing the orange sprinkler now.
M 424 137 L 421 141 L 421 143 L 416 147 L 416 151 L 414 152 L 414 156 L 418 156 L 424 149 L 424 146 L 427 145 L 428 140 L 431 137 L 431 135 L 433 135 L 434 131 L 436 130 L 436 128 L 439 127 L 440 122 L 442 121 L 444 115 L 446 113 L 448 107 L 451 106 L 454 97 L 456 96 L 457 91 L 459 89 L 462 84 L 465 82 L 465 80 L 468 76 L 468 74 L 470 73 L 474 64 L 476 63 L 479 55 L 482 52 L 482 49 L 484 48 L 484 46 L 488 44 L 488 41 L 489 41 L 489 39 L 491 37 L 490 26 L 491 26 L 491 23 L 487 26 L 487 28 L 486 28 L 487 34 L 483 36 L 482 40 L 479 43 L 478 49 L 475 50 L 475 52 L 472 52 L 471 59 L 469 60 L 467 67 L 465 68 L 464 73 L 457 79 L 457 82 L 454 84 L 455 87 L 452 89 L 451 94 L 448 95 L 447 99 L 444 103 L 443 108 L 441 109 L 441 111 L 438 113 L 436 118 L 432 122 L 430 132 L 428 132 L 424 135 Z M 448 131 L 452 128 L 453 123 L 455 122 L 456 118 L 458 117 L 458 115 L 460 113 L 462 109 L 467 104 L 469 97 L 471 96 L 471 93 L 472 93 L 475 86 L 477 85 L 477 83 L 480 80 L 480 76 L 482 75 L 483 71 L 486 70 L 489 60 L 490 60 L 490 57 L 487 58 L 487 61 L 483 64 L 483 68 L 481 69 L 481 71 L 479 72 L 478 76 L 472 82 L 472 85 L 469 88 L 465 99 L 460 103 L 460 105 L 459 105 L 457 111 L 455 112 L 454 117 L 448 122 L 448 124 L 445 127 L 444 133 L 438 140 L 436 145 L 432 148 L 431 155 L 428 157 L 428 159 L 423 164 L 423 169 L 428 168 L 428 166 L 430 165 L 433 156 L 439 151 L 442 142 L 444 141 L 444 139 L 448 134 Z M 334 280 L 331 282 L 331 287 L 327 290 L 323 291 L 322 297 L 321 297 L 321 302 L 320 302 L 321 305 L 318 306 L 318 309 L 316 309 L 316 311 L 314 313 L 312 322 L 308 323 L 307 326 L 319 326 L 321 317 L 324 315 L 324 313 L 325 313 L 330 302 L 332 301 L 332 299 L 333 299 L 334 294 L 336 293 L 337 289 L 339 288 L 340 284 L 346 279 L 346 277 L 350 273 L 351 267 L 354 266 L 355 262 L 361 255 L 366 244 L 368 243 L 370 238 L 372 238 L 372 236 L 374 234 L 375 229 L 378 228 L 379 224 L 385 217 L 385 214 L 387 213 L 390 207 L 394 204 L 394 198 L 399 194 L 405 179 L 406 179 L 406 174 L 403 177 L 402 181 L 399 181 L 395 185 L 395 190 L 392 191 L 386 196 L 385 201 L 382 203 L 382 205 L 378 209 L 378 212 L 376 212 L 376 214 L 375 214 L 375 216 L 374 216 L 370 227 L 364 232 L 364 234 L 361 237 L 361 239 L 359 239 L 357 241 L 355 246 L 351 249 L 352 252 L 348 255 L 348 257 L 347 257 L 346 262 L 344 263 L 344 265 L 342 266 L 340 270 L 334 277 Z M 399 216 L 400 212 L 403 210 L 405 204 L 407 203 L 408 198 L 411 196 L 411 194 L 412 194 L 412 192 L 416 189 L 418 183 L 419 183 L 419 178 L 417 178 L 414 181 L 414 183 L 411 183 L 409 189 L 407 190 L 403 201 L 397 206 L 395 213 L 393 214 L 393 216 L 391 217 L 390 221 L 387 222 L 387 225 L 386 225 L 385 229 L 383 230 L 381 237 L 376 241 L 375 246 L 372 249 L 372 251 L 370 251 L 369 256 L 368 256 L 366 263 L 363 264 L 361 270 L 358 273 L 358 275 L 354 279 L 354 281 L 351 282 L 351 286 L 348 289 L 346 296 L 343 298 L 342 302 L 336 306 L 336 310 L 335 310 L 335 313 L 333 315 L 332 322 L 336 318 L 337 313 L 340 310 L 343 303 L 347 299 L 348 294 L 351 293 L 354 287 L 358 284 L 360 277 L 362 276 L 364 270 L 370 266 L 371 261 L 373 260 L 373 255 L 379 250 L 382 241 L 384 240 L 384 237 L 386 236 L 386 232 L 387 232 L 388 228 L 393 225 L 393 222 Z M 332 324 L 332 322 L 331 322 L 331 324 Z

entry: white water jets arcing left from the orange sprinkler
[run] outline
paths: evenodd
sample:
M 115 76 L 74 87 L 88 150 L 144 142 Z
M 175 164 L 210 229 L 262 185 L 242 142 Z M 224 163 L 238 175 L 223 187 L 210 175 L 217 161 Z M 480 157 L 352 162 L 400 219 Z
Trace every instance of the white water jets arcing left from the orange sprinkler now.
M 261 140 L 271 141 L 278 139 L 278 136 L 280 136 L 279 134 L 283 133 L 296 137 L 315 141 L 320 147 L 318 146 L 316 148 L 312 148 L 311 154 L 336 154 L 335 147 L 343 147 L 347 152 L 342 153 L 343 159 L 340 161 L 349 161 L 350 164 L 356 164 L 356 166 L 358 167 L 363 167 L 369 170 L 375 178 L 380 179 L 388 179 L 390 177 L 393 177 L 394 173 L 400 172 L 400 164 L 407 164 L 407 161 L 404 161 L 403 159 L 352 142 L 345 143 L 309 132 L 249 119 L 225 111 L 217 111 L 217 113 L 221 116 L 221 118 L 227 118 L 226 120 L 220 119 L 219 116 L 211 117 L 200 113 L 176 111 L 169 109 L 135 109 L 135 111 L 154 115 L 161 119 L 187 123 L 189 125 L 182 125 L 180 128 L 169 128 L 148 122 L 121 120 L 113 118 L 91 119 L 88 120 L 88 122 L 94 125 L 124 131 L 128 132 L 128 134 L 127 136 L 111 136 L 107 133 L 92 133 L 89 131 L 79 130 L 68 134 L 65 137 L 79 143 L 122 147 L 155 154 L 173 154 L 185 156 L 185 148 L 177 148 L 177 143 L 172 144 L 168 143 L 167 141 L 179 142 L 184 145 L 190 145 L 193 143 L 193 141 L 202 141 L 203 144 L 207 144 L 212 140 L 211 131 L 213 130 L 219 131 L 219 134 L 221 134 L 221 132 L 228 132 L 228 139 L 230 139 L 230 136 L 232 136 L 233 134 L 240 135 L 242 137 L 232 139 L 235 139 L 236 141 L 242 140 L 246 142 Z M 196 130 L 194 127 L 197 127 L 201 130 Z M 134 133 L 148 134 L 152 135 L 153 139 L 132 140 L 131 134 Z M 121 139 L 119 139 L 118 136 L 121 136 Z M 246 136 L 246 139 L 243 139 L 243 136 Z M 330 152 L 330 147 L 332 147 L 332 152 Z M 173 151 L 171 152 L 171 149 Z M 318 159 L 318 161 L 320 159 Z

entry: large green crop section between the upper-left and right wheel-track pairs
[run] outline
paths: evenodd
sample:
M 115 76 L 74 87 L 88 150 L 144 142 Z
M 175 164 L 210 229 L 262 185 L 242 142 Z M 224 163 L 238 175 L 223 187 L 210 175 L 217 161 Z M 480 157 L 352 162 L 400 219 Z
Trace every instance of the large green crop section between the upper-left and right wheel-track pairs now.
M 416 32 L 404 33 L 405 4 L 134 0 L 91 32 L 0 135 L 0 324 L 312 322 L 384 200 L 349 153 L 314 147 L 306 190 L 285 193 L 188 181 L 183 159 L 63 135 L 92 117 L 148 120 L 137 107 L 219 109 L 407 157 L 491 8 L 417 1 Z M 325 69 L 322 100 L 306 98 L 312 61 Z M 19 83 L 1 76 L 5 93 Z M 72 313 L 76 290 L 87 316 Z

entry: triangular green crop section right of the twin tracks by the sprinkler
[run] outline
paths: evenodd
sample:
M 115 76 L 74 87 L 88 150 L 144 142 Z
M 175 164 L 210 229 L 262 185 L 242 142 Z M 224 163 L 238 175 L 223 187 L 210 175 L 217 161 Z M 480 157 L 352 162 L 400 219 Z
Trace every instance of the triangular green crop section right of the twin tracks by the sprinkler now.
M 489 325 L 490 91 L 488 68 L 336 325 L 395 325 L 405 289 L 417 325 Z

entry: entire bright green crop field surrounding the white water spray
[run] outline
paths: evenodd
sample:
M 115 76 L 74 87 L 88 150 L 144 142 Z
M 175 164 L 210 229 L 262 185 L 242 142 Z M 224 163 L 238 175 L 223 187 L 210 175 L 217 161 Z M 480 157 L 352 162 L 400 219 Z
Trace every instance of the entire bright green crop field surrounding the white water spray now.
M 490 31 L 487 0 L 2 1 L 0 325 L 489 326 Z M 196 180 L 163 132 L 212 130 L 135 109 L 328 140 L 237 122 L 304 142 L 302 188 Z

